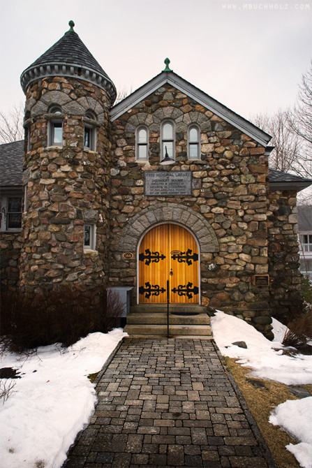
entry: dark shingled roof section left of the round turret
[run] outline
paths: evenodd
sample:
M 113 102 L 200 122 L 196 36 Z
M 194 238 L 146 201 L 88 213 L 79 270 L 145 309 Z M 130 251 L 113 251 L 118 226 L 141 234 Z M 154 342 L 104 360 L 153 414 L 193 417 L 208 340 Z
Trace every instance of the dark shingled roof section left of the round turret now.
M 0 185 L 22 185 L 24 140 L 0 145 Z

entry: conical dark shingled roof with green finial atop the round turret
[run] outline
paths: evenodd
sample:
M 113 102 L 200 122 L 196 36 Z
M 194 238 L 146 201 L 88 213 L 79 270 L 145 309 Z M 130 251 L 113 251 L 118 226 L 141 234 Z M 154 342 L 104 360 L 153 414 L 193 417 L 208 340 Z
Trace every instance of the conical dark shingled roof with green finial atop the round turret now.
M 105 89 L 111 103 L 114 103 L 117 94 L 114 83 L 73 30 L 73 21 L 69 24 L 69 31 L 23 71 L 21 85 L 24 93 L 26 94 L 28 85 L 38 78 L 70 76 L 93 82 Z

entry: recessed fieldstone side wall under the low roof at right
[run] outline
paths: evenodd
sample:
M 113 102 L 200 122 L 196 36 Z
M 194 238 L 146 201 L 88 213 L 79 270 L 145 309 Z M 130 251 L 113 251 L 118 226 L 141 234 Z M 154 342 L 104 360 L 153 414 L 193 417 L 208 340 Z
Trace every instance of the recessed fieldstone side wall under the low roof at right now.
M 295 191 L 269 192 L 270 305 L 285 324 L 302 305 L 296 196 Z

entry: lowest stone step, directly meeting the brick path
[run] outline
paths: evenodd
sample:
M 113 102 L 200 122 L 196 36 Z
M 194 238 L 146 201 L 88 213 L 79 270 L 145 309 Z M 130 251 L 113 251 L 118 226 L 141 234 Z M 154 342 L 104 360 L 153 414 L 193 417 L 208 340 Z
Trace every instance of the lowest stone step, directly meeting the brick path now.
M 167 336 L 166 325 L 126 325 L 124 331 L 128 335 L 150 335 L 150 336 Z M 211 336 L 211 327 L 209 325 L 170 325 L 169 335 L 191 335 L 191 336 Z

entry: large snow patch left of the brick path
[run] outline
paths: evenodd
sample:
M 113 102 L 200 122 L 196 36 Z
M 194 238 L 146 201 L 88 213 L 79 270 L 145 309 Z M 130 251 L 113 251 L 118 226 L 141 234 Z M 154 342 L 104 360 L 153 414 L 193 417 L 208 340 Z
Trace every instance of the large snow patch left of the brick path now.
M 0 403 L 1 468 L 61 467 L 96 404 L 87 376 L 101 370 L 125 335 L 118 328 L 91 333 L 68 349 L 52 345 L 29 357 L 1 356 L 0 368 L 13 367 L 22 376 Z

